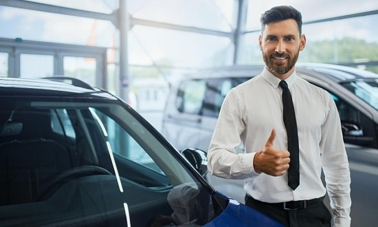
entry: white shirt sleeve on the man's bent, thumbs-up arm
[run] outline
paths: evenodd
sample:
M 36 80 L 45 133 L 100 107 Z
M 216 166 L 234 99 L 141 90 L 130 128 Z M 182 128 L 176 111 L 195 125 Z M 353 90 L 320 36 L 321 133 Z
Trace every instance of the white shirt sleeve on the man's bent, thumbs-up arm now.
M 208 150 L 208 170 L 228 179 L 245 179 L 257 175 L 253 168 L 255 153 L 238 153 L 243 144 L 243 97 L 234 89 L 225 97 Z

